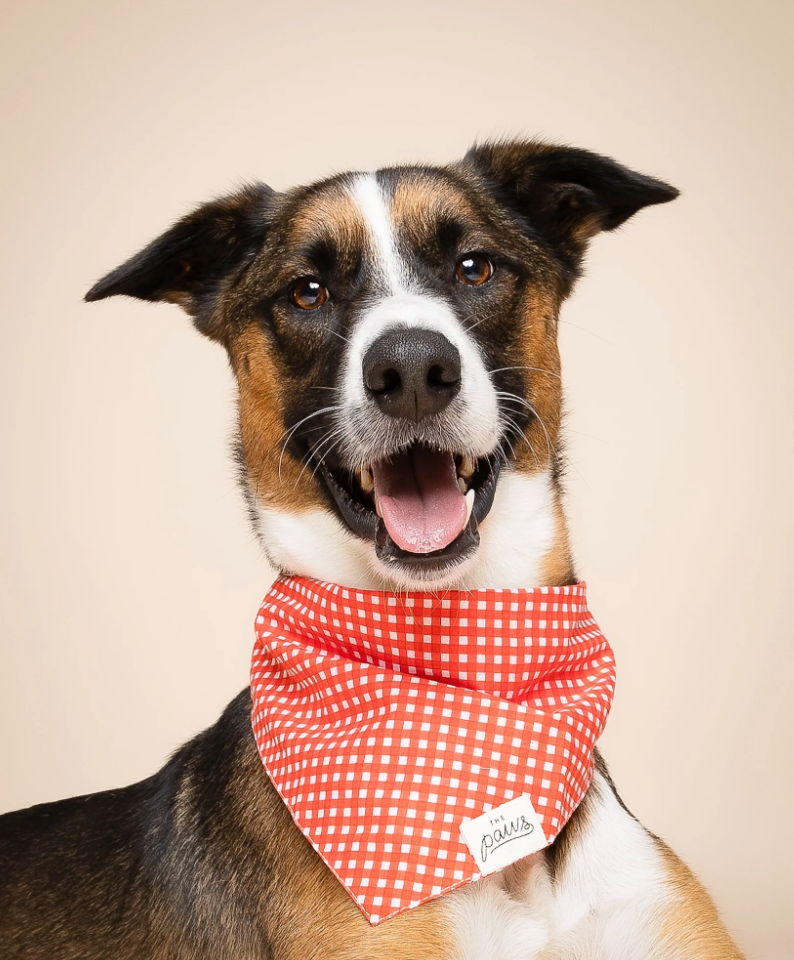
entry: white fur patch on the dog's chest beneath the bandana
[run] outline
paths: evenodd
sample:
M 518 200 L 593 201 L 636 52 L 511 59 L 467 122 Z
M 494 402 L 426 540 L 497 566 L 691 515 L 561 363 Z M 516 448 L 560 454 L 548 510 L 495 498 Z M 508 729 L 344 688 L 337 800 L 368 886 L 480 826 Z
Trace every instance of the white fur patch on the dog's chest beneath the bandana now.
M 455 960 L 654 956 L 671 897 L 659 847 L 598 773 L 575 829 L 554 873 L 539 853 L 445 898 Z

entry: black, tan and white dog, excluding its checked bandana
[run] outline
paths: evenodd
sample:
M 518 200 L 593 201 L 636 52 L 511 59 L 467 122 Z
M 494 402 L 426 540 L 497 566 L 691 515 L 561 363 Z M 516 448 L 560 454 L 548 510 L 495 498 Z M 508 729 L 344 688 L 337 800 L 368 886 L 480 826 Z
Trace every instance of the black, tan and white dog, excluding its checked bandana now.
M 183 307 L 239 387 L 253 526 L 285 574 L 400 596 L 566 587 L 561 305 L 668 184 L 585 150 L 263 184 L 100 280 Z M 429 506 L 428 506 L 429 504 Z M 262 767 L 243 691 L 148 780 L 0 818 L 7 960 L 736 960 L 602 758 L 553 844 L 371 924 Z

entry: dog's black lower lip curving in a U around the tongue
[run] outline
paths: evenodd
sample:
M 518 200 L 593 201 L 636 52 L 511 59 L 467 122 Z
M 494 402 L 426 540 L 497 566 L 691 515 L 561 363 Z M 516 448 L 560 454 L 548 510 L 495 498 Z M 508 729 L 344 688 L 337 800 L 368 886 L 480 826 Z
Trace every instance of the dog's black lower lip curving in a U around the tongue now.
M 332 469 L 327 463 L 320 465 L 318 476 L 324 481 L 337 515 L 350 531 L 375 545 L 378 558 L 389 565 L 399 565 L 414 573 L 423 572 L 426 579 L 430 574 L 443 572 L 470 556 L 479 545 L 479 525 L 488 515 L 496 493 L 500 471 L 500 459 L 497 453 L 481 457 L 479 460 L 464 464 L 464 470 L 470 470 L 471 486 L 474 489 L 474 502 L 466 525 L 458 537 L 442 550 L 428 553 L 411 553 L 401 549 L 391 538 L 383 520 L 375 510 L 372 498 L 365 494 L 363 485 L 353 486 L 352 471 Z M 351 479 L 346 483 L 344 476 Z M 356 489 L 357 488 L 357 489 Z M 421 574 L 420 574 L 421 575 Z

